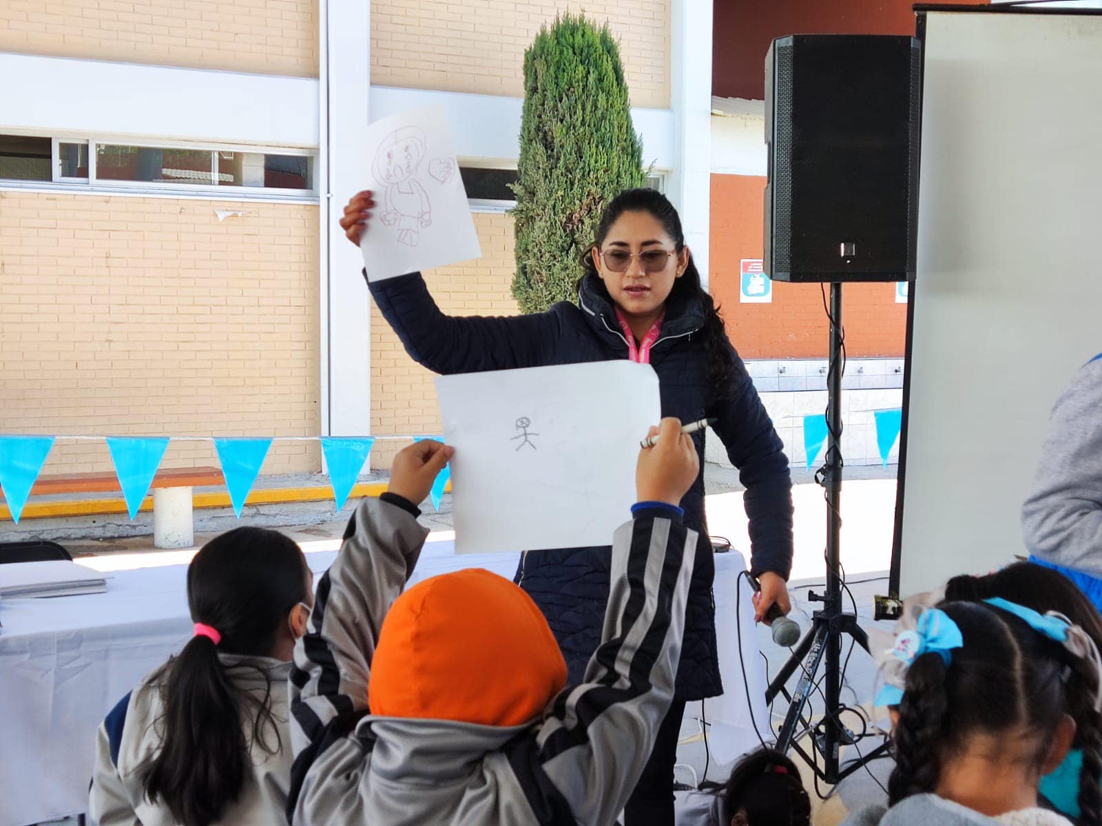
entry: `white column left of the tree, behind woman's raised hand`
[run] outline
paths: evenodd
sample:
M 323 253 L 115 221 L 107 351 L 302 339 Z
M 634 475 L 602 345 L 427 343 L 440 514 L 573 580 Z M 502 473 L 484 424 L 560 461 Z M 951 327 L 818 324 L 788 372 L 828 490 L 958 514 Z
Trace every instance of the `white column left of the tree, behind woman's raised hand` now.
M 364 261 L 337 221 L 367 181 L 370 3 L 321 0 L 320 14 L 322 432 L 350 436 L 371 431 L 371 316 Z

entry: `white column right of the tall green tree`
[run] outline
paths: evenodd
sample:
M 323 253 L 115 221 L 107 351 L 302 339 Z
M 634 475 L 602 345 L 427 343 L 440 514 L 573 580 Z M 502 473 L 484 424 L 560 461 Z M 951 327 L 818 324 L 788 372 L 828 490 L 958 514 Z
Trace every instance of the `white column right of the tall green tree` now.
M 673 0 L 670 57 L 674 165 L 669 195 L 681 215 L 685 243 L 706 287 L 712 200 L 712 0 Z

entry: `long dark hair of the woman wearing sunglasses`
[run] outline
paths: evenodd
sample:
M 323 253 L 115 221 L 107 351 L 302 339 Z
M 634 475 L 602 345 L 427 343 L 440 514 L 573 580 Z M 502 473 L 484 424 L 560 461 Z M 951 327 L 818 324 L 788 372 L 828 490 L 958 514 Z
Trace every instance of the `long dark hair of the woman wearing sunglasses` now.
M 678 210 L 673 208 L 670 199 L 657 189 L 638 188 L 625 189 L 605 205 L 601 214 L 601 221 L 597 224 L 596 238 L 593 247 L 587 249 L 582 256 L 582 267 L 584 272 L 581 282 L 588 276 L 593 276 L 595 284 L 611 300 L 604 282 L 597 275 L 597 269 L 593 264 L 593 256 L 590 250 L 599 248 L 608 236 L 608 230 L 619 220 L 624 213 L 648 213 L 658 220 L 666 233 L 673 239 L 673 246 L 678 252 L 684 249 L 685 236 L 681 229 L 681 218 Z M 670 292 L 667 302 L 689 301 L 695 298 L 704 307 L 704 325 L 701 335 L 704 340 L 704 350 L 707 354 L 707 381 L 722 396 L 731 390 L 731 374 L 735 367 L 735 359 L 732 354 L 731 343 L 727 340 L 727 333 L 723 327 L 723 318 L 720 308 L 700 281 L 700 271 L 692 256 L 689 256 L 689 265 L 681 274 L 681 278 L 673 282 L 673 290 Z

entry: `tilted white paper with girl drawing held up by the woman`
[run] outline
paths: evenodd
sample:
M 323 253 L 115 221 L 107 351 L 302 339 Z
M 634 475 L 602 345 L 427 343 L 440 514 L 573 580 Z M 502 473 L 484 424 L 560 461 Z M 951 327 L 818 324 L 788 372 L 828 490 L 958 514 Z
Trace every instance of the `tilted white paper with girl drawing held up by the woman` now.
M 375 208 L 359 248 L 371 281 L 479 258 L 460 165 L 444 110 L 426 107 L 367 129 L 371 157 L 365 188 Z

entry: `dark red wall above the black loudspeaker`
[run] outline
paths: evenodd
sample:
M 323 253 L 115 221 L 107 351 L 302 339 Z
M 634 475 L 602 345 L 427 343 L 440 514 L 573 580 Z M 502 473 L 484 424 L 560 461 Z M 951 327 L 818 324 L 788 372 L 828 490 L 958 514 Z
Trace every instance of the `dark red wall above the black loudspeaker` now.
M 714 0 L 712 9 L 712 94 L 724 98 L 765 97 L 765 53 L 775 37 L 915 33 L 912 0 Z

